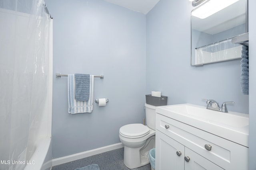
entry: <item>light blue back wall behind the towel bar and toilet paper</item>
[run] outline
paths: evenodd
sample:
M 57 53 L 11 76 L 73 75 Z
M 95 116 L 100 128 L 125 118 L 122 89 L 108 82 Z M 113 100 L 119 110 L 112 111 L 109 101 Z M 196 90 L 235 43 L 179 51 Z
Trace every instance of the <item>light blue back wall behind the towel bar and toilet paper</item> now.
M 145 117 L 146 16 L 102 0 L 47 0 L 53 72 L 94 78 L 92 113 L 68 114 L 67 78 L 53 79 L 52 148 L 58 158 L 119 143 L 119 128 Z

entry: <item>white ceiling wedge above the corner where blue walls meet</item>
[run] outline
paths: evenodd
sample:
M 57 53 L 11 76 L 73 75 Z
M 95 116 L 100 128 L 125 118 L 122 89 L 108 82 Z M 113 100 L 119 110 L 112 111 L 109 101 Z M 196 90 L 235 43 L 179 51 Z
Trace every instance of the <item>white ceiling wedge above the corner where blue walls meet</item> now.
M 104 0 L 142 14 L 147 14 L 159 0 Z

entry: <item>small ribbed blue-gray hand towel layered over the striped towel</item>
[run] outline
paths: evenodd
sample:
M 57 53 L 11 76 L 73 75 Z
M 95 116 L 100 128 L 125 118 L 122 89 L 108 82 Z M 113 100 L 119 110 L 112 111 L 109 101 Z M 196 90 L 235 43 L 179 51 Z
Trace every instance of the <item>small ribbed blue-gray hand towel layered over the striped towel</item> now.
M 90 94 L 90 74 L 74 74 L 75 77 L 75 99 L 77 101 L 88 101 Z

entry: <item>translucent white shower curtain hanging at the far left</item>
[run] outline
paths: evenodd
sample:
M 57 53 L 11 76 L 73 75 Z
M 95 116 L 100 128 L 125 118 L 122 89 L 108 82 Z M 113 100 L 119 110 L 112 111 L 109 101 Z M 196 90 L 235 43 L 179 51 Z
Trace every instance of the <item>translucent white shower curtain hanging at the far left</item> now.
M 0 0 L 0 170 L 22 170 L 38 137 L 49 76 L 44 5 Z

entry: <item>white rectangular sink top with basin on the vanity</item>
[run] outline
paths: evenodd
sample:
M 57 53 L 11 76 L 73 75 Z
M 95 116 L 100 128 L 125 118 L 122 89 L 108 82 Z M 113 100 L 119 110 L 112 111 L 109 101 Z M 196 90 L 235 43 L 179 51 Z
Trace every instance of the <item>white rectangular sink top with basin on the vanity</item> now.
M 156 113 L 248 147 L 248 114 L 224 113 L 192 104 L 158 106 Z

